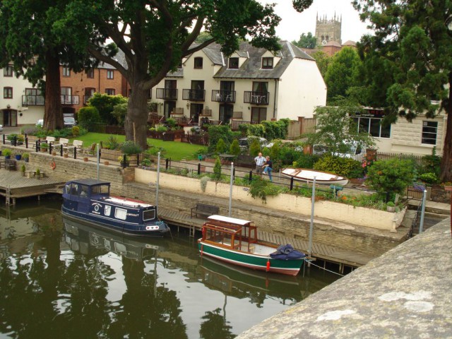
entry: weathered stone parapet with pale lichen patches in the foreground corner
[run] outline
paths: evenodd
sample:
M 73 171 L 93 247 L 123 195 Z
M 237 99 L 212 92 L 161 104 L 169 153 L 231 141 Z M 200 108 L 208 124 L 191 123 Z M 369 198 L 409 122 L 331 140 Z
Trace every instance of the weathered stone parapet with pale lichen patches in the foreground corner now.
M 237 339 L 452 338 L 450 219 Z

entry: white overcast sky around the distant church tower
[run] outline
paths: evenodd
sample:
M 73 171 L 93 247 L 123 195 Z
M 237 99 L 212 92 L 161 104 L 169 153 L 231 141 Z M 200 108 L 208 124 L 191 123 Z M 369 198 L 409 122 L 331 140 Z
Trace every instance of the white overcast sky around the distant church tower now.
M 319 17 L 328 19 L 342 15 L 342 41 L 352 40 L 358 42 L 365 33 L 369 32 L 366 24 L 359 20 L 351 0 L 314 0 L 313 4 L 302 13 L 292 7 L 291 0 L 258 0 L 261 4 L 276 4 L 275 12 L 281 17 L 276 28 L 276 35 L 283 40 L 298 40 L 302 33 L 316 32 L 316 13 Z

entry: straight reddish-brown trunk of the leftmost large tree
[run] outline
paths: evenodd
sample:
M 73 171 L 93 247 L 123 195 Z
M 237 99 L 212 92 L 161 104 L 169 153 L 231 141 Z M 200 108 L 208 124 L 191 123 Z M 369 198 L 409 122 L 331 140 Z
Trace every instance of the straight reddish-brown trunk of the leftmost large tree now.
M 62 129 L 61 88 L 59 78 L 59 57 L 52 50 L 46 54 L 44 129 Z

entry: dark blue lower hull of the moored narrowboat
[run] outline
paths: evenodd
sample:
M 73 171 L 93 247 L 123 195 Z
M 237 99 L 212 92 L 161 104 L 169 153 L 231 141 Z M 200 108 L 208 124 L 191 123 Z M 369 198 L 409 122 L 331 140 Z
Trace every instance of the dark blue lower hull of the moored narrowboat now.
M 71 210 L 65 206 L 61 206 L 61 213 L 66 217 L 78 222 L 85 222 L 88 225 L 97 227 L 101 230 L 109 230 L 121 234 L 129 234 L 144 237 L 162 237 L 169 232 L 169 227 L 165 222 L 159 222 L 158 230 L 146 230 L 148 225 L 137 225 L 133 222 L 120 222 L 112 220 L 112 218 L 104 218 L 101 215 L 93 215 L 90 213 L 82 213 L 77 210 Z

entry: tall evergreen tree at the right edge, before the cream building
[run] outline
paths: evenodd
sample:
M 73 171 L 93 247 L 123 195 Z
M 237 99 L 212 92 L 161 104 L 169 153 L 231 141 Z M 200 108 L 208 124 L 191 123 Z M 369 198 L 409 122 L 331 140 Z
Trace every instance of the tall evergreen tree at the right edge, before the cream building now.
M 359 44 L 364 62 L 374 64 L 368 83 L 379 84 L 392 112 L 415 119 L 448 114 L 441 160 L 441 180 L 452 180 L 452 1 L 355 0 L 374 35 Z M 369 67 L 367 67 L 369 69 Z M 369 80 L 369 78 L 371 80 Z M 369 99 L 374 93 L 367 93 Z M 375 102 L 376 100 L 374 100 Z

